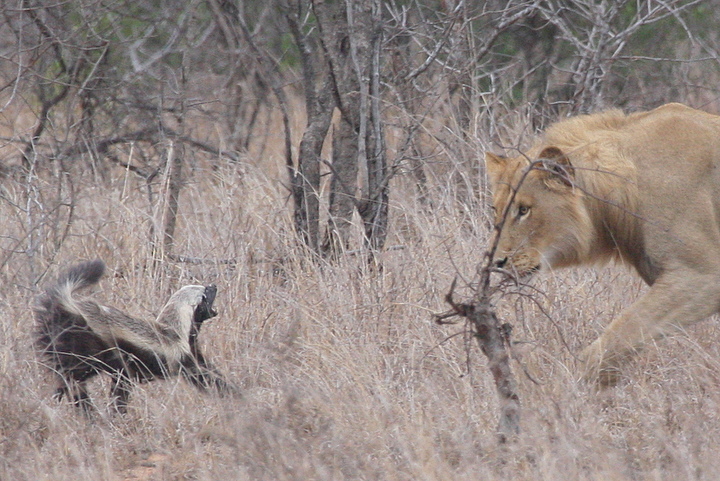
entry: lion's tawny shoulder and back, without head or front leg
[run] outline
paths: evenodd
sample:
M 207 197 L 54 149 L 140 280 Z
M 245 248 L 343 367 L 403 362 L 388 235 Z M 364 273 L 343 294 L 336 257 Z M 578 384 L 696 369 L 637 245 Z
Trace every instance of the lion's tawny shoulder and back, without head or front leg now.
M 545 140 L 571 153 L 588 209 L 646 279 L 719 251 L 719 116 L 676 103 L 612 110 L 559 122 Z

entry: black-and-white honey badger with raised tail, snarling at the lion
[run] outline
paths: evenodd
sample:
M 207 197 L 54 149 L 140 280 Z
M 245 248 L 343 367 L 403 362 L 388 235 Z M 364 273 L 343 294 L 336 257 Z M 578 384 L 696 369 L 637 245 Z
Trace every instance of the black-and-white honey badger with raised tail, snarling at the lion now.
M 86 382 L 101 372 L 112 379 L 116 409 L 125 412 L 133 382 L 182 375 L 198 389 L 238 394 L 205 360 L 197 336 L 215 317 L 217 287 L 185 286 L 175 292 L 155 321 L 142 321 L 76 292 L 97 284 L 101 260 L 83 262 L 60 275 L 35 306 L 37 347 L 60 377 L 55 397 L 72 395 L 86 413 L 93 410 Z

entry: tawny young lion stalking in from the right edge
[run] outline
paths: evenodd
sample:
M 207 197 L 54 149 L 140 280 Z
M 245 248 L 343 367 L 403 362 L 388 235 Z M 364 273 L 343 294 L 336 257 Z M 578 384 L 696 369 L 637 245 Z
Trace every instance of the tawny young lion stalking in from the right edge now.
M 549 127 L 514 158 L 486 153 L 498 267 L 521 278 L 608 260 L 650 286 L 580 354 L 600 386 L 648 341 L 720 310 L 720 117 L 672 103 Z

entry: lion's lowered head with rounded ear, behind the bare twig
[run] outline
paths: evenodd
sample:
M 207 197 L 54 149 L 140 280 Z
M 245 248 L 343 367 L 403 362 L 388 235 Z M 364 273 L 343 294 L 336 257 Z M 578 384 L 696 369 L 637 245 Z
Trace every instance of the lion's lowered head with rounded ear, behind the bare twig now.
M 494 261 L 518 276 L 580 262 L 592 225 L 575 171 L 557 147 L 506 158 L 486 154 L 500 239 Z

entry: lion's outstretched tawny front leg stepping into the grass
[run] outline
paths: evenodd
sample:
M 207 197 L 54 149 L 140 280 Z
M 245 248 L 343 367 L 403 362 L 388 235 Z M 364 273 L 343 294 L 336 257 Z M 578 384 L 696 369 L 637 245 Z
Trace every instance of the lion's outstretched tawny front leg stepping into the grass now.
M 720 307 L 720 274 L 678 270 L 663 275 L 580 354 L 583 379 L 615 385 L 624 364 L 654 339 L 705 319 Z

